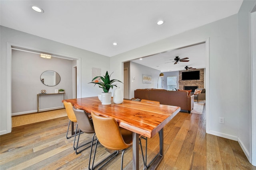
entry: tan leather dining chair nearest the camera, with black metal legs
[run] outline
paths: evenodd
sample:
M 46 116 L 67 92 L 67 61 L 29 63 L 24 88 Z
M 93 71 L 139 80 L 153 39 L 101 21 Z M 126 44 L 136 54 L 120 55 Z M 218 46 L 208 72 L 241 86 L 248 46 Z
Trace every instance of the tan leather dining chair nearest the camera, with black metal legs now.
M 97 142 L 92 160 L 92 168 L 94 169 L 104 163 L 100 168 L 106 165 L 110 160 L 118 155 L 118 150 L 122 150 L 121 170 L 123 169 L 124 151 L 132 146 L 132 132 L 118 126 L 116 120 L 112 117 L 102 117 L 91 112 L 94 130 L 97 136 Z M 95 154 L 98 141 L 107 149 L 116 150 L 97 165 L 94 166 Z M 142 147 L 141 147 L 142 149 Z M 108 162 L 106 162 L 108 160 Z M 144 160 L 144 159 L 143 159 Z M 100 169 L 99 168 L 99 169 Z M 90 169 L 90 162 L 89 162 Z

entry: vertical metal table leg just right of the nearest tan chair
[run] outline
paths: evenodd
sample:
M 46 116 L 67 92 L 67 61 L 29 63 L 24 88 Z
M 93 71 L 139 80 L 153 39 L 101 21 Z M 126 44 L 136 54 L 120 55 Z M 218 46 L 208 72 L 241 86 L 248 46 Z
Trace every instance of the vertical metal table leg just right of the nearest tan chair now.
M 139 169 L 139 134 L 132 132 L 132 169 Z

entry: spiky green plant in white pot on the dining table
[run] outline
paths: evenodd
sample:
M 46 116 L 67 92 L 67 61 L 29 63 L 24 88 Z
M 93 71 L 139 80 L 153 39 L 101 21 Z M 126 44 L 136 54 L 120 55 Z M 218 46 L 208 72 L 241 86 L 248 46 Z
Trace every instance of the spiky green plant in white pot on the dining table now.
M 114 82 L 121 82 L 120 80 L 116 80 L 116 79 L 110 80 L 111 74 L 108 75 L 108 71 L 107 71 L 105 76 L 103 76 L 103 77 L 96 76 L 92 79 L 92 82 L 89 82 L 89 83 L 93 83 L 94 86 L 96 84 L 98 84 L 99 88 L 102 88 L 103 92 L 101 93 L 101 97 L 99 96 L 99 99 L 101 98 L 101 102 L 103 105 L 111 104 L 111 94 L 112 93 L 109 92 L 109 90 L 110 90 L 110 88 L 113 89 L 113 87 L 116 86 L 116 84 L 113 84 Z M 99 78 L 100 78 L 100 80 L 98 80 Z

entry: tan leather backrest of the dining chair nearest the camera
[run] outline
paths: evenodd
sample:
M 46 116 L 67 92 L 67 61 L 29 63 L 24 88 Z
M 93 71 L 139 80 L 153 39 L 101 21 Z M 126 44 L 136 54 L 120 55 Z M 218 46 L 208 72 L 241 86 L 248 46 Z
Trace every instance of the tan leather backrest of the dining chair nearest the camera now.
M 94 130 L 101 145 L 112 150 L 122 150 L 130 145 L 124 142 L 116 120 L 112 117 L 102 117 L 91 112 Z

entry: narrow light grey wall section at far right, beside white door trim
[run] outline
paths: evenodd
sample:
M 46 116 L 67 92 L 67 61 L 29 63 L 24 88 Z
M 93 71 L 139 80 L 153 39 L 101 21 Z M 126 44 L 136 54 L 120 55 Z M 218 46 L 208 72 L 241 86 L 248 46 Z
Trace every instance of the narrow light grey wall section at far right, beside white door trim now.
M 242 148 L 248 158 L 252 154 L 252 146 L 250 146 L 252 140 L 250 13 L 255 5 L 256 1 L 244 1 L 238 13 L 238 142 L 243 145 Z

